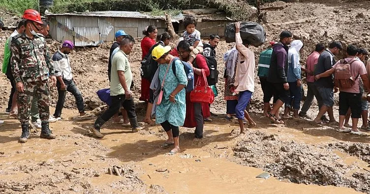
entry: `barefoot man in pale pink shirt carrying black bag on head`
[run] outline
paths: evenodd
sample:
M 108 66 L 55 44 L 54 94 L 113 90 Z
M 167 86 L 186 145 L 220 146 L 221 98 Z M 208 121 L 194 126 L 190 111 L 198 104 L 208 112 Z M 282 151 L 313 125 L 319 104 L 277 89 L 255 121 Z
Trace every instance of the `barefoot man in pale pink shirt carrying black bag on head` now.
M 254 91 L 254 53 L 248 49 L 249 42 L 242 40 L 240 36 L 240 23 L 235 23 L 235 42 L 238 50 L 238 59 L 235 75 L 235 91 L 239 92 L 238 104 L 235 108 L 235 114 L 239 121 L 240 134 L 245 134 L 243 118 L 245 110 Z M 250 118 L 246 111 L 246 118 L 249 121 L 249 127 L 256 126 L 256 123 Z

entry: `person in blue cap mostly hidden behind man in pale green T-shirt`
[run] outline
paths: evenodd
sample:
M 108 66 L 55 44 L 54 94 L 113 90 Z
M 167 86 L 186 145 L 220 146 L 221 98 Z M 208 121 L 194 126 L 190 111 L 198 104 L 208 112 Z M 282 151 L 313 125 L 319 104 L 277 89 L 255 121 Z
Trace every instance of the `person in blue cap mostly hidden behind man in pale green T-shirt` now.
M 122 29 L 116 31 L 115 33 L 115 38 L 116 41 L 112 44 L 111 49 L 109 50 L 109 59 L 108 59 L 108 79 L 109 82 L 111 82 L 111 69 L 112 69 L 112 57 L 120 50 L 120 43 L 125 38 L 128 34 L 126 34 Z M 131 83 L 132 87 L 133 83 Z M 129 127 L 130 126 L 130 121 L 128 120 L 128 115 L 127 111 L 123 109 L 123 107 L 120 107 L 122 117 L 123 119 L 120 118 L 119 112 L 117 112 L 113 116 L 113 124 L 122 124 L 123 127 Z

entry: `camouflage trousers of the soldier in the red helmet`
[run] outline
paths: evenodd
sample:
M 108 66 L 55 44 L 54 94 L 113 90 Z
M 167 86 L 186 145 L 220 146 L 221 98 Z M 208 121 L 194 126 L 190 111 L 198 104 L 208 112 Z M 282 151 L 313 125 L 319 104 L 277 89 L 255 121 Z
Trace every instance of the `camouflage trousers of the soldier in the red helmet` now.
M 30 108 L 33 98 L 37 99 L 38 111 L 41 121 L 49 121 L 50 90 L 49 81 L 24 82 L 24 93 L 17 95 L 18 119 L 21 123 L 28 123 L 30 120 Z

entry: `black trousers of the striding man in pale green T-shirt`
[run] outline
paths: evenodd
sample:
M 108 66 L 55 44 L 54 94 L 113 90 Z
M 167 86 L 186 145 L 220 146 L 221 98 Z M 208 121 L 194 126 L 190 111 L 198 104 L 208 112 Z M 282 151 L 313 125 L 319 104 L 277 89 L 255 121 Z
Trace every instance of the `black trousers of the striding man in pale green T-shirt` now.
M 112 96 L 112 106 L 101 115 L 101 118 L 107 122 L 113 115 L 120 111 L 121 105 L 127 111 L 128 118 L 136 117 L 134 100 L 132 98 L 126 100 L 124 94 L 121 94 Z

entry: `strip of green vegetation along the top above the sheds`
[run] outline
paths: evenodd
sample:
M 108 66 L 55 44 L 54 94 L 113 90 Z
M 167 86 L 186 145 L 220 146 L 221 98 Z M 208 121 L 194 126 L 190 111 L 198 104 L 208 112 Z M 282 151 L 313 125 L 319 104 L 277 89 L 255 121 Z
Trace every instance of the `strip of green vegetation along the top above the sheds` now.
M 261 3 L 275 0 L 261 0 Z M 256 0 L 54 0 L 54 13 L 89 11 L 145 11 L 153 15 L 177 15 L 182 9 L 217 8 L 231 17 L 251 19 L 253 13 L 244 7 Z M 0 0 L 0 7 L 22 15 L 26 9 L 38 10 L 38 0 Z M 243 7 L 243 9 L 242 9 Z

